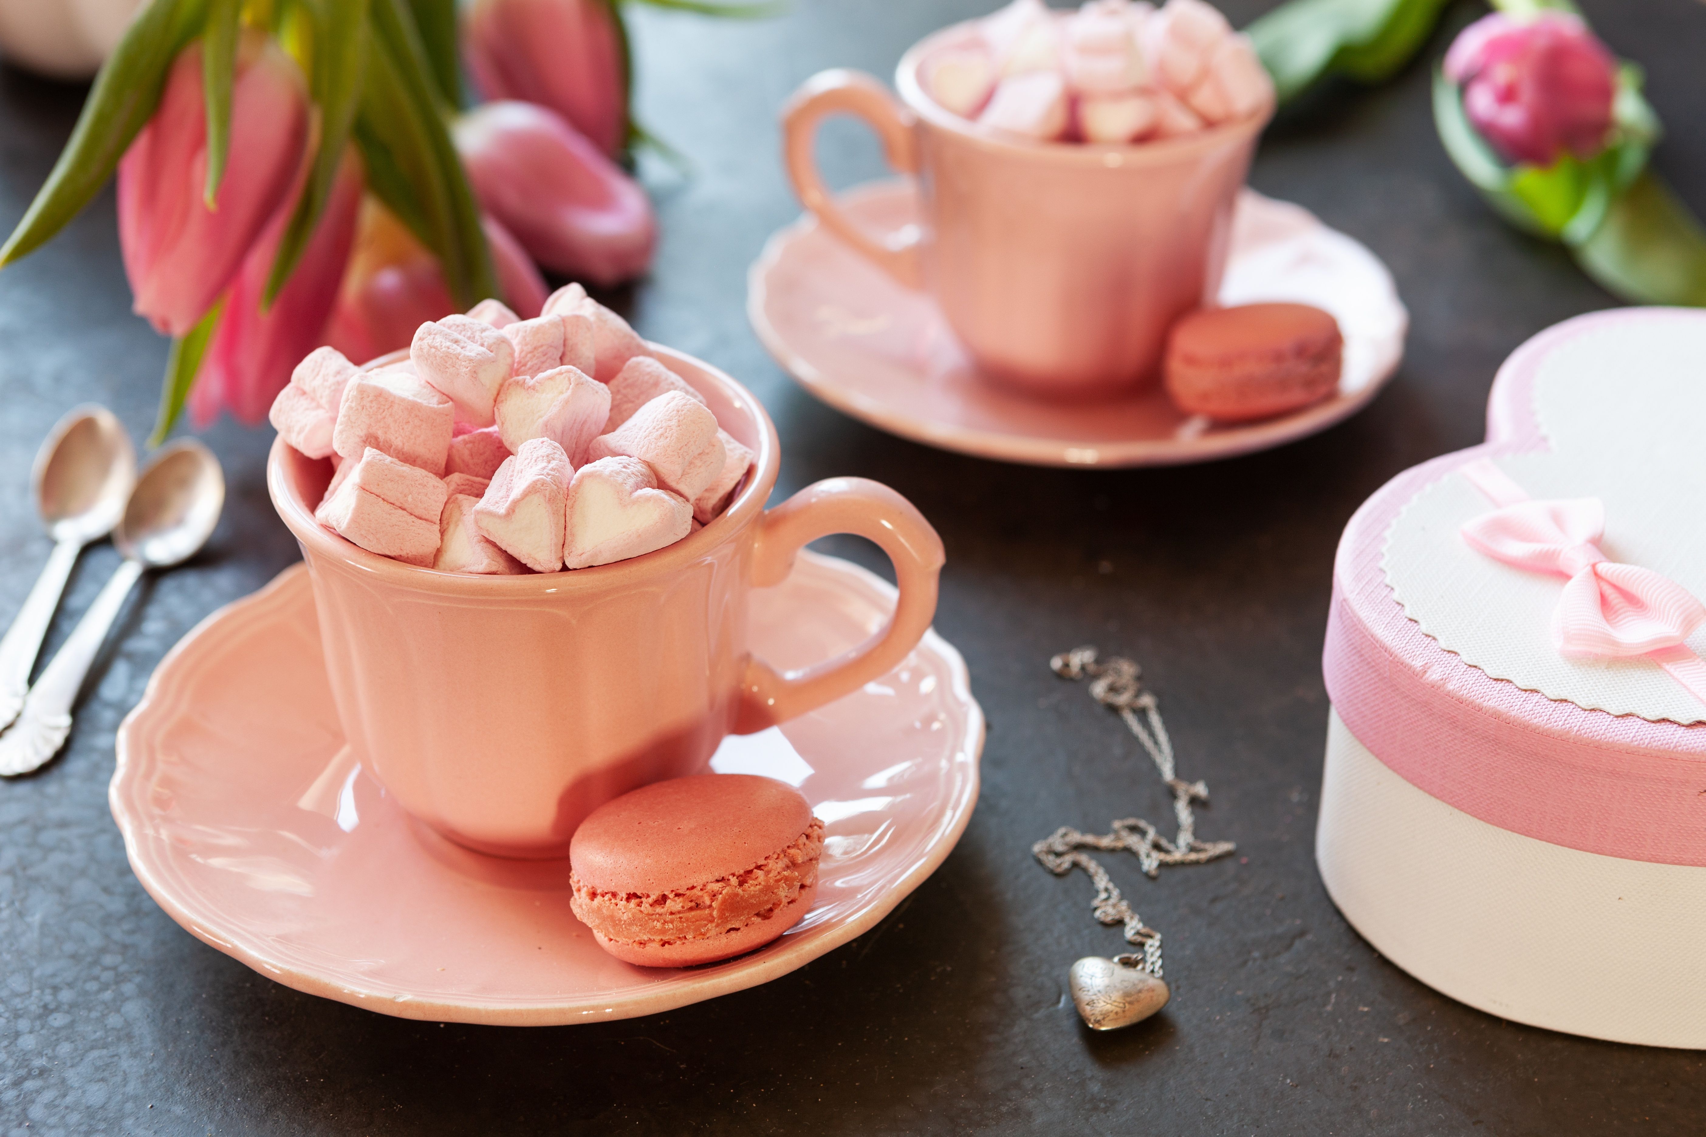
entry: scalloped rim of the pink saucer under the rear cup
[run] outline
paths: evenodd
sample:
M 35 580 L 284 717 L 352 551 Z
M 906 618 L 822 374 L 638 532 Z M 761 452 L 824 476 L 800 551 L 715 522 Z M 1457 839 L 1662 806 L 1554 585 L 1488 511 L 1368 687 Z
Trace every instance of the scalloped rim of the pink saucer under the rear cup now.
M 836 194 L 836 198 L 843 205 L 848 205 L 858 198 L 880 196 L 902 189 L 909 184 L 911 179 L 908 177 L 879 177 L 851 186 Z M 1240 191 L 1240 198 L 1244 194 L 1266 198 L 1266 194 L 1259 194 L 1249 186 Z M 1268 199 L 1280 201 L 1283 205 L 1295 205 L 1285 201 L 1283 198 Z M 1373 257 L 1375 263 L 1380 264 L 1380 268 L 1384 268 L 1390 276 L 1390 269 L 1373 254 L 1372 249 L 1358 242 L 1355 237 L 1332 228 L 1314 213 L 1310 213 L 1310 216 L 1327 232 L 1338 234 L 1367 251 L 1368 256 Z M 935 419 L 896 411 L 884 401 L 873 399 L 860 390 L 851 390 L 844 384 L 838 384 L 795 351 L 781 332 L 771 324 L 769 315 L 766 314 L 769 295 L 766 286 L 768 276 L 781 261 L 783 251 L 793 240 L 809 235 L 815 228 L 819 228 L 817 218 L 812 213 L 802 213 L 793 222 L 773 232 L 766 239 L 764 249 L 759 252 L 757 259 L 747 268 L 746 307 L 747 322 L 752 326 L 752 332 L 757 336 L 759 343 L 764 344 L 764 349 L 771 355 L 776 365 L 822 402 L 841 411 L 843 414 L 848 414 L 850 418 L 856 418 L 870 426 L 875 426 L 877 430 L 923 443 L 926 447 L 937 447 L 940 450 L 952 450 L 955 453 L 967 453 L 971 457 L 993 459 L 998 462 L 1059 469 L 1196 465 L 1201 462 L 1237 459 L 1247 453 L 1273 450 L 1276 447 L 1309 438 L 1310 435 L 1319 435 L 1331 426 L 1338 426 L 1373 402 L 1375 395 L 1385 389 L 1404 363 L 1404 338 L 1409 331 L 1407 309 L 1404 310 L 1404 326 L 1399 329 L 1397 355 L 1384 370 L 1372 375 L 1368 382 L 1356 390 L 1338 394 L 1332 399 L 1326 399 L 1293 411 L 1291 414 L 1281 414 L 1280 418 L 1264 419 L 1261 423 L 1227 426 L 1215 433 L 1184 440 L 1138 438 L 1128 442 L 1036 438 L 1030 435 L 1007 435 L 991 430 L 943 424 Z M 1396 291 L 1397 290 L 1394 288 L 1394 295 Z M 1402 300 L 1399 300 L 1399 307 L 1404 307 Z

